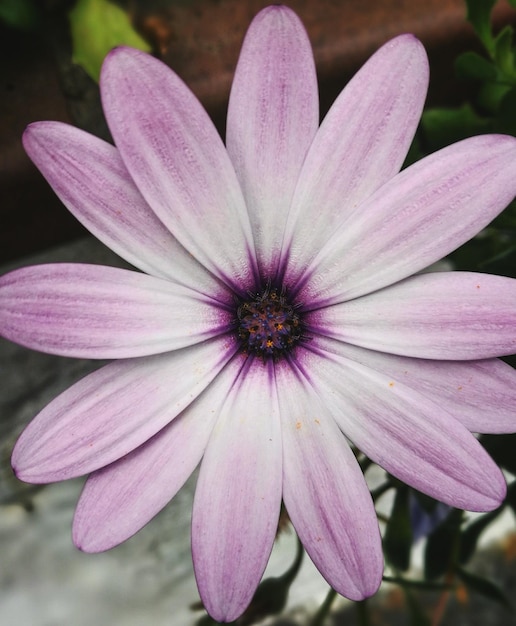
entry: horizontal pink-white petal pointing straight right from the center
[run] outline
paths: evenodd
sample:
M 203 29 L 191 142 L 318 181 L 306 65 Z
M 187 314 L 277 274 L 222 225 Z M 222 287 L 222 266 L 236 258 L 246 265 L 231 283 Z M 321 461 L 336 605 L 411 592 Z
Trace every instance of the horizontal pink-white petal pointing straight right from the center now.
M 364 348 L 423 359 L 516 352 L 516 280 L 473 272 L 421 274 L 314 312 L 309 324 Z

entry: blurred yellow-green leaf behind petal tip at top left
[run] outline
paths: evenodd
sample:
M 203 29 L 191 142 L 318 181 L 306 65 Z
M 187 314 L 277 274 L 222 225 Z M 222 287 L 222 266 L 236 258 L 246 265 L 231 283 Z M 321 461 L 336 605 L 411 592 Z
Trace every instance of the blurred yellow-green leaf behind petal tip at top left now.
M 150 51 L 148 43 L 134 30 L 127 13 L 107 0 L 79 0 L 69 18 L 72 59 L 97 82 L 104 57 L 112 48 L 126 45 Z

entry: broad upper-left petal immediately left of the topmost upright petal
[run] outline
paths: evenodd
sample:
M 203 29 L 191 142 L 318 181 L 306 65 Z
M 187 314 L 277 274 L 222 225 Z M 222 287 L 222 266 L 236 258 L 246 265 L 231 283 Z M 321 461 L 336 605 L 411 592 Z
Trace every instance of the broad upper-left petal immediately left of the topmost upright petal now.
M 100 86 L 116 146 L 153 211 L 213 274 L 249 289 L 256 262 L 245 202 L 197 98 L 166 65 L 130 48 L 106 57 Z

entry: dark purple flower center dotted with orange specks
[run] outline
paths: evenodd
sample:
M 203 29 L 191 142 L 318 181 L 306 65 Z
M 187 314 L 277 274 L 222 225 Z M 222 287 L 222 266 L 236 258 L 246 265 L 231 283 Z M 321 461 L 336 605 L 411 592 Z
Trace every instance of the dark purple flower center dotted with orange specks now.
M 288 354 L 302 338 L 299 307 L 276 288 L 249 294 L 237 308 L 237 334 L 244 354 L 274 359 Z

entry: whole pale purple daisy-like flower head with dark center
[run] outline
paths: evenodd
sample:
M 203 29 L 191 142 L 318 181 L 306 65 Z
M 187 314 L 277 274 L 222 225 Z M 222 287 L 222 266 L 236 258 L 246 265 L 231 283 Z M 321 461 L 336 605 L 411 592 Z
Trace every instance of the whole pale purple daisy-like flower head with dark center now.
M 226 146 L 166 66 L 118 48 L 101 76 L 115 145 L 57 122 L 27 152 L 64 204 L 141 272 L 80 264 L 3 277 L 5 337 L 115 359 L 48 405 L 13 467 L 90 474 L 73 538 L 106 550 L 201 461 L 192 550 L 209 613 L 231 621 L 266 566 L 283 499 L 339 593 L 376 591 L 375 510 L 348 440 L 449 505 L 497 507 L 505 481 L 473 432 L 516 427 L 516 281 L 417 274 L 513 199 L 516 140 L 484 135 L 399 173 L 426 94 L 402 35 L 318 127 L 307 35 L 286 7 L 245 38 Z

